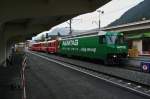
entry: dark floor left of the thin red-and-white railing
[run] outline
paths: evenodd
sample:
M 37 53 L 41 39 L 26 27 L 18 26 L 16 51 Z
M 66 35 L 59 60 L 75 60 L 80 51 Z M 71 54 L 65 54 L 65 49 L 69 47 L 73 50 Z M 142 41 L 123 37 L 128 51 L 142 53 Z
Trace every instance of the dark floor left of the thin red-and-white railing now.
M 11 64 L 7 67 L 0 66 L 0 99 L 22 99 L 20 86 L 22 59 L 22 55 L 15 54 Z

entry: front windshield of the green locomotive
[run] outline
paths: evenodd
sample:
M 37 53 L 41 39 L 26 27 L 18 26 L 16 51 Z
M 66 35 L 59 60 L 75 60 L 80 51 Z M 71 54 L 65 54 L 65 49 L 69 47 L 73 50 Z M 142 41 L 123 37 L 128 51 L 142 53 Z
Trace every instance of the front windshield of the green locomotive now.
M 123 36 L 118 36 L 118 35 L 107 35 L 106 42 L 107 44 L 123 44 L 124 38 Z

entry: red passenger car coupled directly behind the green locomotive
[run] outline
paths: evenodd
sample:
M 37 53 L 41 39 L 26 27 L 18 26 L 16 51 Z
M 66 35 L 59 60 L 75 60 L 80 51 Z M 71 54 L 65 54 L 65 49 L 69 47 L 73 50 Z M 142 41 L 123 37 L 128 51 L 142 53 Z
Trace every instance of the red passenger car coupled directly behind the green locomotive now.
M 48 53 L 57 53 L 58 51 L 58 40 L 51 40 L 51 41 L 48 41 L 48 48 L 47 48 L 47 51 Z

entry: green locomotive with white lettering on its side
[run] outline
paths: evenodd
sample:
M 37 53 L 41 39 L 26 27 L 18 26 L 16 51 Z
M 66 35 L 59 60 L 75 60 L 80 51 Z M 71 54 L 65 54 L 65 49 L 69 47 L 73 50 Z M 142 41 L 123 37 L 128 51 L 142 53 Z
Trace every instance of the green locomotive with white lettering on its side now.
M 62 38 L 58 52 L 68 56 L 100 59 L 105 64 L 119 64 L 127 57 L 128 48 L 123 33 L 100 31 L 91 35 Z

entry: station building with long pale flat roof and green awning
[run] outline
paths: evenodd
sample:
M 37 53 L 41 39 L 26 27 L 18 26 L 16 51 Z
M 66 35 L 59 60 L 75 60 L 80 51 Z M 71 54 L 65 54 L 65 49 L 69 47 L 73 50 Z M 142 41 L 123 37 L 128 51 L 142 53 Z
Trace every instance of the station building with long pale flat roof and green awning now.
M 135 57 L 139 55 L 150 56 L 150 20 L 104 27 L 101 30 L 124 33 L 129 51 L 134 49 L 132 52 L 136 52 L 137 50 Z

